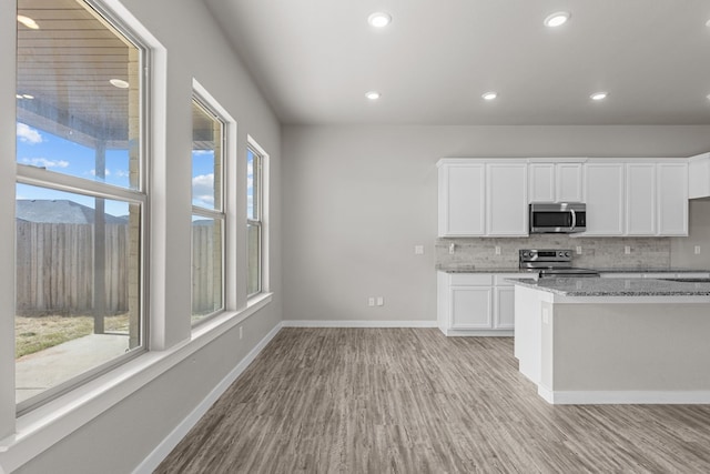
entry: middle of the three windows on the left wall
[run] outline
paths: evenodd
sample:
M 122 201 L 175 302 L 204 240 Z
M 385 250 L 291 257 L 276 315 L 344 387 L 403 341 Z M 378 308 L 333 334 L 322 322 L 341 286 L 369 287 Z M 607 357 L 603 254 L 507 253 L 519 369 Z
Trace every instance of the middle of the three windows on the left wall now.
M 224 122 L 192 101 L 192 324 L 224 309 Z

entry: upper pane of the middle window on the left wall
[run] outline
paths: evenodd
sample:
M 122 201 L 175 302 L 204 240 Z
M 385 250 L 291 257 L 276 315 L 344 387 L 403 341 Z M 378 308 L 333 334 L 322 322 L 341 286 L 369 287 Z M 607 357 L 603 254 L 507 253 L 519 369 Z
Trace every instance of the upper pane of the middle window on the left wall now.
M 192 204 L 222 210 L 222 122 L 192 102 Z

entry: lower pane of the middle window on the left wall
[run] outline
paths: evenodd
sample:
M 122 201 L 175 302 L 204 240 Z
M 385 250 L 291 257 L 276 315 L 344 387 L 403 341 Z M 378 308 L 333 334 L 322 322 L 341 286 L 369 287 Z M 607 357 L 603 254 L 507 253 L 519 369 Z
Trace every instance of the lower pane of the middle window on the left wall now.
M 192 218 L 192 323 L 223 309 L 222 221 Z

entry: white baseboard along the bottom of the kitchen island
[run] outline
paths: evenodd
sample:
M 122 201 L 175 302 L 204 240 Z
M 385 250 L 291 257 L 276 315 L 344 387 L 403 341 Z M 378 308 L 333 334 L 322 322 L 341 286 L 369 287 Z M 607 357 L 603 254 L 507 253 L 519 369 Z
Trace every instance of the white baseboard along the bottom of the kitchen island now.
M 710 391 L 550 391 L 538 395 L 554 405 L 698 405 L 710 404 Z

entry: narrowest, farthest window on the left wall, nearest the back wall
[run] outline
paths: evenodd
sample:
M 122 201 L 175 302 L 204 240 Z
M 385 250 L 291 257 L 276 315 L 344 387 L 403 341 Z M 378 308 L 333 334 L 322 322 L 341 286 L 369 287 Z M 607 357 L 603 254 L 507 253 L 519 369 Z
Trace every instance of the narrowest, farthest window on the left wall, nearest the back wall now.
M 265 153 L 250 142 L 246 149 L 246 230 L 247 230 L 247 289 L 248 296 L 264 290 L 264 161 Z

